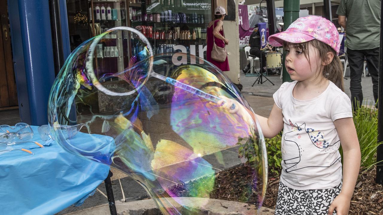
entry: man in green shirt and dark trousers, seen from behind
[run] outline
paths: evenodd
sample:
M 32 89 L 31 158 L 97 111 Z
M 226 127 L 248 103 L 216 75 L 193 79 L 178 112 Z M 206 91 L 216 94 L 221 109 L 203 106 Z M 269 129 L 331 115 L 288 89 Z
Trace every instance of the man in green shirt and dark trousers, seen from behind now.
M 380 5 L 381 0 L 341 0 L 336 11 L 338 23 L 346 31 L 354 110 L 363 102 L 361 81 L 365 59 L 372 77 L 375 103 L 378 99 Z

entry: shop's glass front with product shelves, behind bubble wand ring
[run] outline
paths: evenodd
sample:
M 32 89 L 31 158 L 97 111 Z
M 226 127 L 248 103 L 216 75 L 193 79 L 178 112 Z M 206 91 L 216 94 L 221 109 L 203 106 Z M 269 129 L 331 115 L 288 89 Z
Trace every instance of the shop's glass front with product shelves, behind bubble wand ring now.
M 70 48 L 106 30 L 129 26 L 146 36 L 154 54 L 184 52 L 205 58 L 211 0 L 67 0 Z M 130 38 L 130 40 L 128 39 Z M 121 72 L 142 50 L 134 36 L 111 32 L 99 42 L 96 75 Z M 118 78 L 105 81 L 118 81 Z

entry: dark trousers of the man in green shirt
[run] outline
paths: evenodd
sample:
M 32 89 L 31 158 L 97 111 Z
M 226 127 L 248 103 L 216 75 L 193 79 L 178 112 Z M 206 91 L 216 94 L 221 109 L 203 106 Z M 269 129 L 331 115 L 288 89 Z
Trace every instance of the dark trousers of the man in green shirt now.
M 364 59 L 367 60 L 368 72 L 372 77 L 372 91 L 375 103 L 378 100 L 378 78 L 379 78 L 379 47 L 375 49 L 352 50 L 347 49 L 350 65 L 350 91 L 352 108 L 356 110 L 358 104 L 362 105 L 362 74 Z

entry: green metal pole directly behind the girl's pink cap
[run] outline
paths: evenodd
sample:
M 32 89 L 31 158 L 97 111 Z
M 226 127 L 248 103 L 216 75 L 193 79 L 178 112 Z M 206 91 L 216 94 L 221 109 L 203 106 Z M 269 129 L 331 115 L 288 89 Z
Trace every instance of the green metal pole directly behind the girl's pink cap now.
M 286 30 L 293 21 L 299 18 L 299 0 L 285 0 L 283 1 L 283 29 Z M 283 78 L 282 81 L 291 81 L 290 75 L 285 68 L 286 52 L 283 50 Z

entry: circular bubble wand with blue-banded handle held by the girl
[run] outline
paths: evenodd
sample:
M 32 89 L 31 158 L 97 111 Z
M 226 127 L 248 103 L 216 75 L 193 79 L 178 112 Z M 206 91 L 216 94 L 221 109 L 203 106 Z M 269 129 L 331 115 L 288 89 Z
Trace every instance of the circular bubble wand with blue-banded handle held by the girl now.
M 148 39 L 139 31 L 137 31 L 137 29 L 134 29 L 134 28 L 130 28 L 130 27 L 125 27 L 125 26 L 120 26 L 120 27 L 115 27 L 115 28 L 111 28 L 109 29 L 108 31 L 106 31 L 105 33 L 109 33 L 109 32 L 112 32 L 112 31 L 116 31 L 116 30 L 126 30 L 126 31 L 131 31 L 135 34 L 138 35 L 139 39 L 141 39 L 143 42 L 146 43 L 146 46 L 147 46 L 147 49 L 149 51 L 149 68 L 148 68 L 148 74 L 146 75 L 146 78 L 145 80 L 141 83 L 141 85 L 137 86 L 136 89 L 134 90 L 131 90 L 131 91 L 128 91 L 128 92 L 125 92 L 125 93 L 118 93 L 118 92 L 114 92 L 114 91 L 111 91 L 111 90 L 108 90 L 106 89 L 103 85 L 101 85 L 101 83 L 98 81 L 95 73 L 94 73 L 94 69 L 93 69 L 93 55 L 94 55 L 94 50 L 95 50 L 95 47 L 97 46 L 98 42 L 100 42 L 100 40 L 102 39 L 102 36 L 98 36 L 98 37 L 95 37 L 95 39 L 92 41 L 92 44 L 90 44 L 90 47 L 89 47 L 89 54 L 88 54 L 88 60 L 86 62 L 86 68 L 87 68 L 87 72 L 89 74 L 89 77 L 90 77 L 90 80 L 92 81 L 93 85 L 100 91 L 102 91 L 103 93 L 105 94 L 108 94 L 108 95 L 111 95 L 111 96 L 128 96 L 130 94 L 133 94 L 135 92 L 137 92 L 137 90 L 139 90 L 143 85 L 144 83 L 146 82 L 146 80 L 148 80 L 150 77 L 155 77 L 155 78 L 158 78 L 160 80 L 163 80 L 165 81 L 166 83 L 169 83 L 173 86 L 176 86 L 176 87 L 179 87 L 183 90 L 186 90 L 190 93 L 193 93 L 197 96 L 200 96 L 202 98 L 205 98 L 205 99 L 208 99 L 209 101 L 212 101 L 213 103 L 218 103 L 219 101 L 223 100 L 221 98 L 219 98 L 218 96 L 214 96 L 212 94 L 209 94 L 209 93 L 205 93 L 204 91 L 202 90 L 199 90 L 193 86 L 190 86 L 190 85 L 187 85 L 187 84 L 184 84 L 180 81 L 177 81 L 173 78 L 170 78 L 170 77 L 165 77 L 164 75 L 160 75 L 156 72 L 154 72 L 153 70 L 153 49 L 152 49 L 152 46 L 150 44 L 150 42 L 148 41 Z M 104 34 L 105 34 L 104 33 Z M 101 34 L 103 35 L 103 34 Z M 224 101 L 226 102 L 226 101 Z M 230 106 L 230 109 L 235 109 L 236 108 L 236 105 L 235 104 L 232 104 Z

